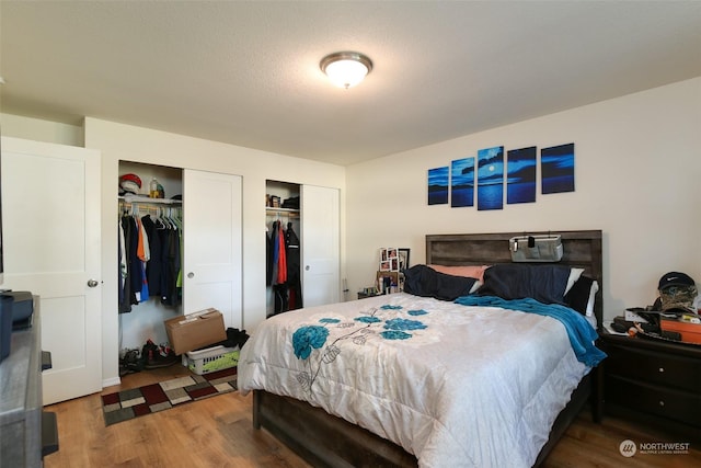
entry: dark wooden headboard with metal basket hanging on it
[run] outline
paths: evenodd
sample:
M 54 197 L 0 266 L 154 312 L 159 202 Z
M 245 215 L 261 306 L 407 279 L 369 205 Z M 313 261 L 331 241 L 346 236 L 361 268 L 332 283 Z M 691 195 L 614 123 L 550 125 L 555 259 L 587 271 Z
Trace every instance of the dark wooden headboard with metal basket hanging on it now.
M 601 328 L 604 275 L 600 230 L 427 235 L 426 264 L 494 265 L 512 263 L 508 240 L 524 235 L 560 235 L 562 237 L 564 253 L 562 260 L 556 264 L 584 269 L 585 275 L 597 281 L 599 293 L 596 295 L 594 313 L 599 328 Z

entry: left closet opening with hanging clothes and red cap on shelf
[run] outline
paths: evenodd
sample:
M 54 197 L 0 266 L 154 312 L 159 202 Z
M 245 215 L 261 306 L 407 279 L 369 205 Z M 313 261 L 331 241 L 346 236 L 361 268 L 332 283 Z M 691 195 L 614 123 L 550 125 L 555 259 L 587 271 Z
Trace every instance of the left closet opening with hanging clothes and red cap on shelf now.
M 183 313 L 183 170 L 119 161 L 119 356 L 148 340 L 168 344 L 163 321 Z

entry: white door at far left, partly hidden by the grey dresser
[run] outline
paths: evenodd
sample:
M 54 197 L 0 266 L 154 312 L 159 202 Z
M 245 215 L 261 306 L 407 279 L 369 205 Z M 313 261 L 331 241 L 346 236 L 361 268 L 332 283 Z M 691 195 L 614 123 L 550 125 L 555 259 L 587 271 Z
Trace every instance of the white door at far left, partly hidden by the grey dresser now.
M 39 296 L 44 404 L 102 390 L 100 151 L 3 137 L 3 288 Z

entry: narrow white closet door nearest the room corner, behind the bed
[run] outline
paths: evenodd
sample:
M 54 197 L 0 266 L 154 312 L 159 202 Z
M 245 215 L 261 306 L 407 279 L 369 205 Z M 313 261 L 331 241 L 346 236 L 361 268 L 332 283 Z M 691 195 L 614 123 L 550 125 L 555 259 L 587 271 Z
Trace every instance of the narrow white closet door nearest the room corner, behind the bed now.
M 302 303 L 304 307 L 341 299 L 338 190 L 301 187 Z

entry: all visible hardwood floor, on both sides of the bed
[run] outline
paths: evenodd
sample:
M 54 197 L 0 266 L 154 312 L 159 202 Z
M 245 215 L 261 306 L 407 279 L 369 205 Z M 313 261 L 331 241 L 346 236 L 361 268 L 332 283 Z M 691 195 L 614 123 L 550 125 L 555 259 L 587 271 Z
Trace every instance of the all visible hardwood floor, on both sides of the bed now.
M 136 388 L 187 374 L 181 366 L 145 370 L 124 377 L 120 386 L 103 393 Z M 48 406 L 57 413 L 59 450 L 44 459 L 46 468 L 179 468 L 275 467 L 307 468 L 308 464 L 265 431 L 251 423 L 251 395 L 238 392 L 183 404 L 163 412 L 105 426 L 100 393 Z M 545 468 L 701 467 L 700 447 L 686 455 L 619 452 L 622 441 L 687 442 L 665 437 L 650 429 L 606 418 L 602 424 L 583 411 L 545 460 Z M 505 468 L 505 467 L 499 467 Z

